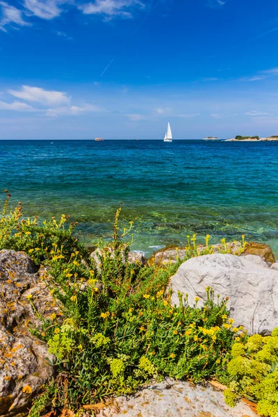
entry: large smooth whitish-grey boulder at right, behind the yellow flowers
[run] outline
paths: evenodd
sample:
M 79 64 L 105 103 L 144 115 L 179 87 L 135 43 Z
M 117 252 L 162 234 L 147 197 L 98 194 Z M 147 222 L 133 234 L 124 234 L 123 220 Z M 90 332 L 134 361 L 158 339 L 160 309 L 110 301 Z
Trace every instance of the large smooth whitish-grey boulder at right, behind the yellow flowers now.
M 188 302 L 206 300 L 206 287 L 227 302 L 235 326 L 250 334 L 272 331 L 278 324 L 278 272 L 265 268 L 254 257 L 211 254 L 188 259 L 171 278 L 172 304 L 179 304 L 178 291 L 188 293 Z

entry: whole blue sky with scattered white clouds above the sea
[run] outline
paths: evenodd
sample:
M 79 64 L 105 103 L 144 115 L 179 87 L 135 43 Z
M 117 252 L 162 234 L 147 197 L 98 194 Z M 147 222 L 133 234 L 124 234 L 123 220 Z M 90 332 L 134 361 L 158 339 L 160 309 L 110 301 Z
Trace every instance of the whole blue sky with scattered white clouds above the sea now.
M 277 0 L 0 0 L 0 139 L 278 134 Z

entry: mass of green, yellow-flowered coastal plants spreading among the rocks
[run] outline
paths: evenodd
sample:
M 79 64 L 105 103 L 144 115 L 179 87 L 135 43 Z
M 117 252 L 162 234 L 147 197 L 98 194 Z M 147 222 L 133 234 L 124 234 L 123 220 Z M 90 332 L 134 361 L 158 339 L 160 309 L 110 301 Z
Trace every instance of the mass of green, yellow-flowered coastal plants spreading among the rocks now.
M 192 383 L 218 378 L 229 385 L 224 394 L 228 404 L 234 405 L 238 395 L 252 395 L 261 401 L 261 415 L 275 416 L 277 405 L 270 397 L 277 386 L 277 330 L 271 338 L 248 338 L 243 327 L 234 327 L 227 300 L 209 287 L 204 306 L 198 297 L 189 306 L 188 295 L 181 293 L 179 305 L 171 305 L 170 277 L 181 261 L 213 252 L 210 236 L 202 252 L 196 236 L 188 236 L 185 259 L 174 265 L 129 263 L 132 222 L 120 233 L 119 208 L 111 240 L 97 244 L 96 262 L 74 237 L 76 224 L 65 215 L 40 224 L 38 218 L 22 218 L 21 203 L 8 213 L 9 200 L 6 190 L 0 250 L 24 251 L 47 270 L 42 279 L 58 307 L 47 318 L 38 314 L 41 329 L 30 324 L 56 357 L 56 378 L 35 398 L 30 417 L 52 409 L 94 415 L 100 401 L 164 377 Z M 222 247 L 229 252 L 225 240 Z M 36 313 L 34 297 L 28 295 L 28 302 Z M 261 361 L 261 368 L 254 361 Z M 234 373 L 238 366 L 240 373 Z M 261 394 L 264 386 L 268 397 Z

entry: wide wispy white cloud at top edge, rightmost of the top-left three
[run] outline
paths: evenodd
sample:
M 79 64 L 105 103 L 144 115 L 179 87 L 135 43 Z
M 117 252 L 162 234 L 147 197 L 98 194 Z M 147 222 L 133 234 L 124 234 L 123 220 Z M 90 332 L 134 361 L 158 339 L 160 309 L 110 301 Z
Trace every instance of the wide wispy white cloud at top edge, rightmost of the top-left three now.
M 95 0 L 94 3 L 87 3 L 79 6 L 85 15 L 104 15 L 108 19 L 113 17 L 132 17 L 132 9 L 135 7 L 144 8 L 140 0 Z

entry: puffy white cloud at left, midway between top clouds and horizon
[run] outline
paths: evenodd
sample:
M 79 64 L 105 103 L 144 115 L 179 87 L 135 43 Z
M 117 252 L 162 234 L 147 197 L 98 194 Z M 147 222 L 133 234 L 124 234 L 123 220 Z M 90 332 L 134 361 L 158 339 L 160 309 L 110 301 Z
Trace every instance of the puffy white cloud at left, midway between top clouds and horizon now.
M 43 90 L 39 87 L 30 87 L 22 85 L 22 90 L 8 90 L 8 92 L 26 101 L 38 101 L 38 103 L 48 106 L 60 106 L 61 104 L 69 104 L 70 97 L 63 91 Z

